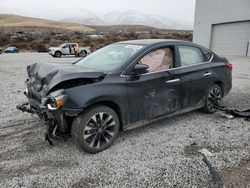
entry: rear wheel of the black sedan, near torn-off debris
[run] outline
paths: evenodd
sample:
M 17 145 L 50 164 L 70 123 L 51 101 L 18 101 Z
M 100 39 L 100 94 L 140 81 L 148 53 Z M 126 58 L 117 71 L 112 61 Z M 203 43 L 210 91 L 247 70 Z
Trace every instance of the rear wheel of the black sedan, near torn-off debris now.
M 208 114 L 212 114 L 216 112 L 216 108 L 213 107 L 213 103 L 211 102 L 211 99 L 220 102 L 220 100 L 223 97 L 222 89 L 218 84 L 212 85 L 210 89 L 208 90 L 205 105 L 202 108 L 202 111 Z

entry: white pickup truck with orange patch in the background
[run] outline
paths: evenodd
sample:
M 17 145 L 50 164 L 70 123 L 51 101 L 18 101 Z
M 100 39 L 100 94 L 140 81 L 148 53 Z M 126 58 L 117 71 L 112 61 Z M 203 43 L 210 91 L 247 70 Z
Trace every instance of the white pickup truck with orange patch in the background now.
M 77 43 L 64 43 L 58 47 L 49 48 L 49 54 L 53 57 L 61 57 L 62 55 L 86 57 L 90 53 L 89 47 L 79 47 Z

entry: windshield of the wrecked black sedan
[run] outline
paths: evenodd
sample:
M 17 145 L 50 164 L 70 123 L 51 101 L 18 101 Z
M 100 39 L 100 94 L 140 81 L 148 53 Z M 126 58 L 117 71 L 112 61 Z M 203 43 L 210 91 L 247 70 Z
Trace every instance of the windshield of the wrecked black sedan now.
M 122 66 L 142 48 L 144 48 L 142 45 L 111 44 L 90 54 L 76 65 L 100 71 L 111 71 Z

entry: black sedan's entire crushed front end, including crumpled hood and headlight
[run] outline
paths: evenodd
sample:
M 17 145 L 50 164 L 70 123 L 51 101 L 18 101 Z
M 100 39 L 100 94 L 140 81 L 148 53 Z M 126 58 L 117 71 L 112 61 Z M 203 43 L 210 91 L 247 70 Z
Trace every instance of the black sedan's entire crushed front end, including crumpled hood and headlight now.
M 37 114 L 47 126 L 46 141 L 51 138 L 66 138 L 70 135 L 73 118 L 83 111 L 68 95 L 68 90 L 77 86 L 99 82 L 103 73 L 81 69 L 75 65 L 33 64 L 27 67 L 28 101 L 17 105 L 22 112 Z

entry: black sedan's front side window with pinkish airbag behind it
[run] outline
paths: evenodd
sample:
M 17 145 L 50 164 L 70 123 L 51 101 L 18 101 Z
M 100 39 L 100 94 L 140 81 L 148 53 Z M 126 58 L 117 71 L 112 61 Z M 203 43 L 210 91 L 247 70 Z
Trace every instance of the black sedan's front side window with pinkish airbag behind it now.
M 160 48 L 145 55 L 138 63 L 149 66 L 149 72 L 170 69 L 173 65 L 172 49 Z

